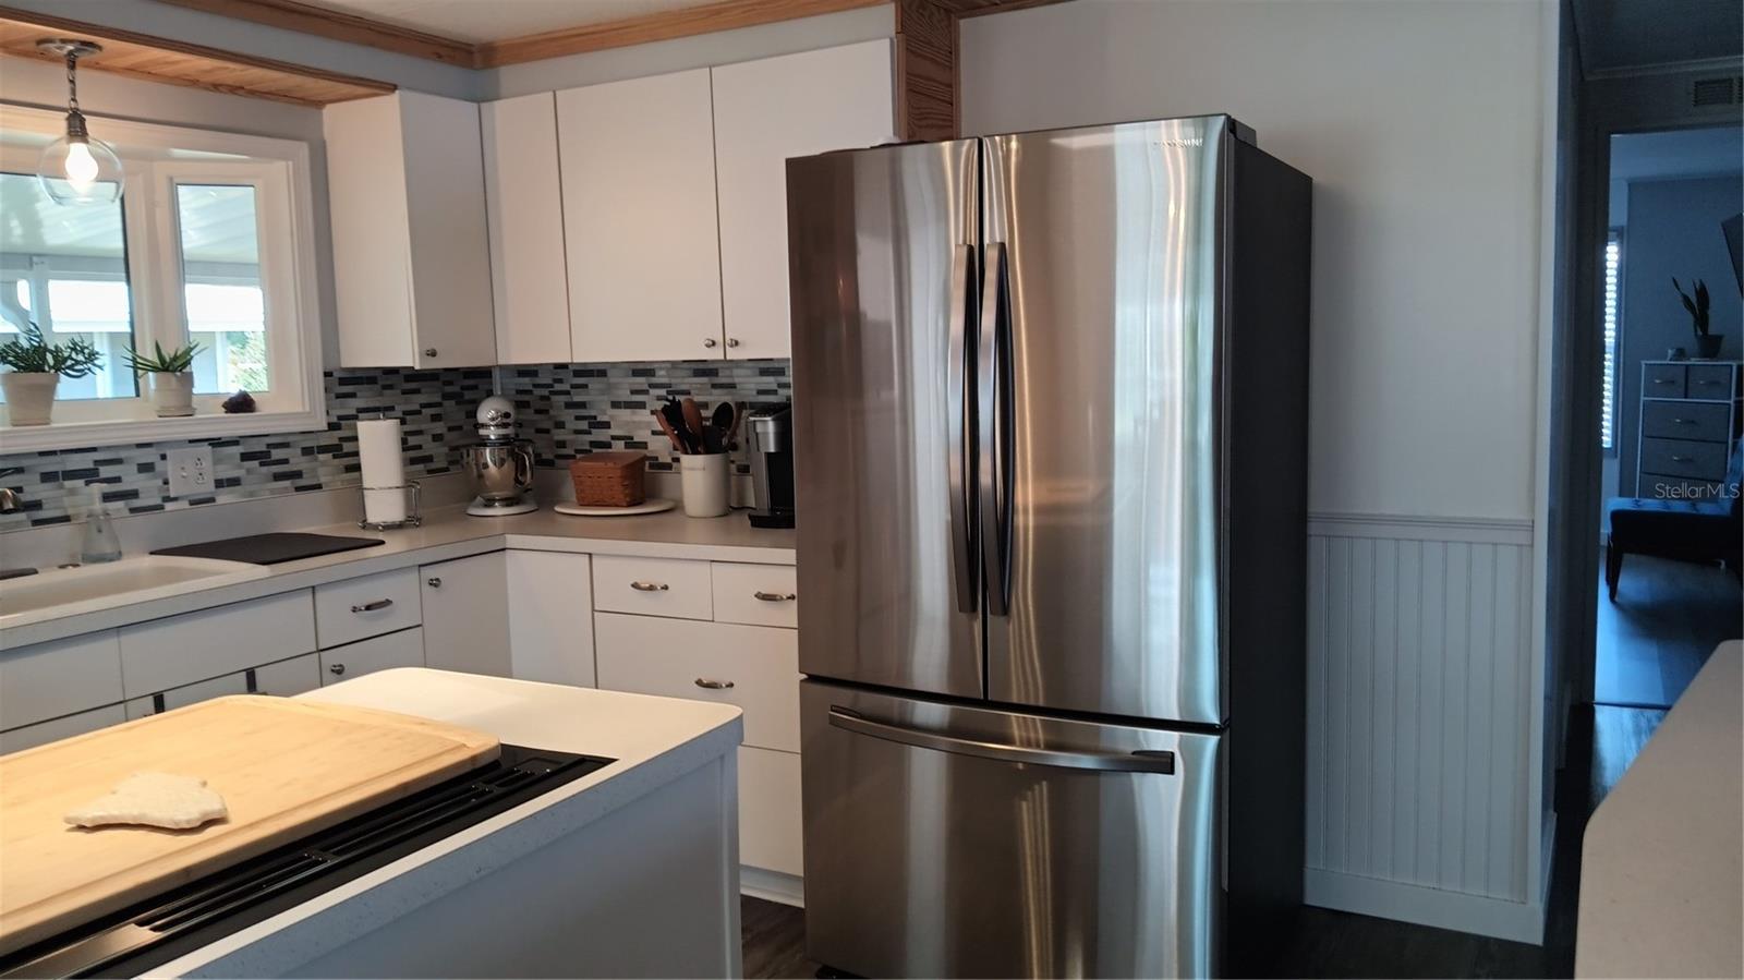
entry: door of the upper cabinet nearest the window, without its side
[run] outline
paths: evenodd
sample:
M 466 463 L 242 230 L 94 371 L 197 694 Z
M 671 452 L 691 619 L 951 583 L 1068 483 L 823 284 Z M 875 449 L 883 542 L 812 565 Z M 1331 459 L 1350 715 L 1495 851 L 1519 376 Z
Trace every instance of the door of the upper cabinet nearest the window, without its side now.
M 412 248 L 413 364 L 497 363 L 478 105 L 399 92 Z

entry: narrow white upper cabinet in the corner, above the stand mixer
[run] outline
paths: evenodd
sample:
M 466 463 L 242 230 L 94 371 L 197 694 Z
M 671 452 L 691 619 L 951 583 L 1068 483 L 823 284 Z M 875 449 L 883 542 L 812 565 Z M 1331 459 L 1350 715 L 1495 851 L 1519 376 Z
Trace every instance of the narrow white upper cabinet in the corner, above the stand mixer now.
M 556 159 L 556 96 L 535 92 L 480 106 L 485 211 L 499 364 L 563 364 L 569 274 L 563 187 Z

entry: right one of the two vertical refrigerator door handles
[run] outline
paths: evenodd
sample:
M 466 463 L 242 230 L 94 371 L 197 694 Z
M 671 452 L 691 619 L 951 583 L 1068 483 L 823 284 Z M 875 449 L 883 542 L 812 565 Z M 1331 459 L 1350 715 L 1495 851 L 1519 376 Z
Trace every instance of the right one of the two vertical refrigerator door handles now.
M 1010 405 L 1010 331 L 1012 310 L 1006 284 L 1005 242 L 987 242 L 982 256 L 980 368 L 977 401 L 980 422 L 980 539 L 982 579 L 987 582 L 987 612 L 1010 614 L 1010 530 L 1005 507 L 1012 497 L 1012 405 Z

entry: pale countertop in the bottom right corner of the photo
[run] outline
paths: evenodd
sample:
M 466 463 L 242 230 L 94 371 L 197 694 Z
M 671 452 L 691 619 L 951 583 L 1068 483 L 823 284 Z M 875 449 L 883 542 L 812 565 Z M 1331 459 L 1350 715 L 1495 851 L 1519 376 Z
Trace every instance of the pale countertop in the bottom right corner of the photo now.
M 1587 823 L 1575 977 L 1744 977 L 1744 642 L 1721 643 Z

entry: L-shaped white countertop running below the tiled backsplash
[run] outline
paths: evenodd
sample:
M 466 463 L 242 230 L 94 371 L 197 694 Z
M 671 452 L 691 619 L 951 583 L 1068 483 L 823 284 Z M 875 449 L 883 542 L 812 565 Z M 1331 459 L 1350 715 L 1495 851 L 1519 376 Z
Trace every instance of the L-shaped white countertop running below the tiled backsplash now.
M 269 565 L 263 575 L 244 582 L 194 588 L 167 598 L 129 602 L 0 630 L 0 649 L 77 636 L 78 633 L 504 548 L 792 565 L 795 542 L 795 532 L 753 528 L 741 513 L 722 518 L 687 518 L 678 509 L 624 518 L 579 518 L 542 507 L 530 514 L 474 518 L 466 513 L 466 507 L 453 506 L 429 511 L 424 527 L 406 530 L 359 530 L 356 523 L 293 530 L 380 537 L 385 544 Z

